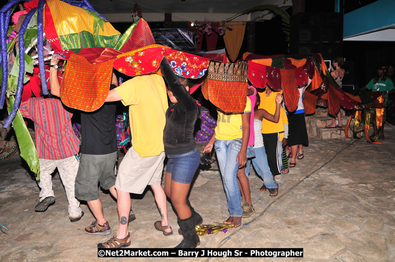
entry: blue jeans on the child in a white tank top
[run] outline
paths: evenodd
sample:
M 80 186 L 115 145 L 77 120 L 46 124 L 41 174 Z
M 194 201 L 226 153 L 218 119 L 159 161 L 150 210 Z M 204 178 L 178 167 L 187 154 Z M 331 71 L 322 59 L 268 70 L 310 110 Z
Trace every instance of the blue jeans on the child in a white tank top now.
M 245 170 L 247 178 L 250 175 L 251 161 L 253 161 L 255 171 L 258 176 L 263 180 L 263 184 L 266 186 L 266 188 L 278 188 L 279 185 L 274 181 L 272 172 L 270 172 L 265 147 L 254 148 L 254 151 L 255 158 L 253 158 L 252 160 L 249 159 L 247 161 L 247 166 Z

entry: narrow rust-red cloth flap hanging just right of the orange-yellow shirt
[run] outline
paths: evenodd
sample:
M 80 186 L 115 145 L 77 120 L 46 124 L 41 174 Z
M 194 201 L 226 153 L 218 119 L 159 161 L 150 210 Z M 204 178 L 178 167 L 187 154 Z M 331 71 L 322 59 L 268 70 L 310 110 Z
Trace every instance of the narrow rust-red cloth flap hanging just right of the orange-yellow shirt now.
M 280 69 L 281 85 L 284 94 L 284 102 L 289 112 L 298 108 L 299 90 L 296 86 L 295 69 Z

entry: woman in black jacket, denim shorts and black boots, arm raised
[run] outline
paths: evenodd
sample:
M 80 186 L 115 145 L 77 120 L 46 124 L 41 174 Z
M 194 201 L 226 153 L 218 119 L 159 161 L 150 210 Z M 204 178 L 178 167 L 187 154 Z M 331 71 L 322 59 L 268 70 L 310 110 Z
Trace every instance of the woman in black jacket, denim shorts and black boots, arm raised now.
M 161 71 L 169 85 L 171 102 L 166 111 L 163 134 L 168 157 L 165 193 L 177 212 L 178 224 L 184 236 L 176 248 L 195 248 L 200 243 L 195 226 L 202 222 L 202 218 L 190 206 L 187 195 L 200 163 L 200 153 L 193 135 L 195 122 L 200 116 L 200 106 L 189 94 L 188 79 L 178 78 L 166 58 L 161 61 Z M 166 236 L 172 234 L 165 231 L 170 225 L 162 226 L 161 221 L 155 222 L 155 228 Z

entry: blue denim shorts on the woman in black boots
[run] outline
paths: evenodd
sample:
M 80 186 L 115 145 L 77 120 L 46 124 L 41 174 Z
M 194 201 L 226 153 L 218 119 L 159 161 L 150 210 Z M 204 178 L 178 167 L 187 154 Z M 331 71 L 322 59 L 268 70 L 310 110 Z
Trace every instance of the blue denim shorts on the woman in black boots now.
M 195 147 L 188 153 L 167 156 L 166 172 L 171 174 L 171 180 L 178 183 L 191 183 L 200 164 L 200 153 L 197 148 Z

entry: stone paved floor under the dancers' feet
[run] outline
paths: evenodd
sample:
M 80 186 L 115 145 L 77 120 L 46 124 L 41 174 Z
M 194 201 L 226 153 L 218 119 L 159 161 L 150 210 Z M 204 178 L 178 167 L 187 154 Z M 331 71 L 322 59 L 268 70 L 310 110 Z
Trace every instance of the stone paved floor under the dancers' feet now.
M 260 193 L 261 180 L 251 175 L 256 211 L 244 225 L 226 234 L 201 236 L 199 247 L 299 247 L 303 259 L 266 261 L 378 261 L 395 260 L 394 178 L 395 127 L 386 126 L 386 140 L 371 145 L 364 139 L 310 139 L 305 158 L 282 177 L 279 197 Z M 200 146 L 201 149 L 201 146 Z M 216 164 L 200 171 L 190 201 L 205 224 L 224 221 L 226 198 Z M 86 204 L 85 216 L 76 223 L 67 218 L 67 200 L 55 174 L 56 204 L 35 212 L 39 188 L 18 156 L 0 162 L 0 261 L 97 261 L 96 244 L 109 236 L 85 235 L 93 220 Z M 309 175 L 306 177 L 307 175 Z M 117 230 L 116 203 L 100 192 L 106 219 Z M 268 204 L 271 204 L 268 206 Z M 153 195 L 134 195 L 137 219 L 129 225 L 130 247 L 173 247 L 182 236 L 163 236 L 154 229 L 159 220 Z M 169 207 L 170 224 L 178 230 Z M 112 258 L 101 261 L 126 261 Z M 163 260 L 163 259 L 162 259 Z M 203 259 L 169 259 L 202 261 Z M 258 259 L 204 259 L 204 261 L 257 261 Z M 141 259 L 154 261 L 154 259 Z

